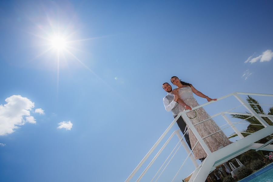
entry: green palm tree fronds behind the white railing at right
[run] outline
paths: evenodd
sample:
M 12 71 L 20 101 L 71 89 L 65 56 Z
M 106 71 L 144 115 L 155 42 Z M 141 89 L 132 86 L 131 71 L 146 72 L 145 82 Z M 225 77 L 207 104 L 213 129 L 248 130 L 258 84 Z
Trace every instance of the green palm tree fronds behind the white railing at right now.
M 247 96 L 246 100 L 248 101 L 248 103 L 250 104 L 251 108 L 258 114 L 265 114 L 263 108 L 258 105 L 258 101 L 255 100 L 254 98 L 252 98 L 251 96 Z M 248 113 L 248 112 L 246 112 Z M 250 114 L 250 113 L 248 113 Z M 273 115 L 273 107 L 269 108 L 268 110 L 268 115 Z M 261 124 L 255 117 L 251 117 L 251 118 L 248 118 L 249 116 L 246 116 L 246 115 L 239 115 L 239 114 L 231 114 L 231 116 L 233 118 L 239 118 L 241 120 L 246 120 L 248 121 L 250 124 Z M 248 119 L 247 119 L 248 118 Z M 267 118 L 267 117 L 262 117 L 266 123 L 268 123 L 269 125 L 273 125 L 273 123 Z M 245 136 L 248 136 L 249 134 L 248 133 L 254 133 L 258 130 L 261 130 L 262 128 L 264 128 L 264 126 L 261 126 L 261 125 L 249 125 L 248 128 L 246 130 L 242 130 L 241 132 L 242 135 L 245 137 Z M 236 133 L 233 133 L 231 136 L 229 136 L 228 138 L 232 138 L 234 136 L 237 136 Z M 257 141 L 257 143 L 266 143 L 268 140 L 271 140 L 273 137 L 272 136 L 267 136 L 259 141 Z

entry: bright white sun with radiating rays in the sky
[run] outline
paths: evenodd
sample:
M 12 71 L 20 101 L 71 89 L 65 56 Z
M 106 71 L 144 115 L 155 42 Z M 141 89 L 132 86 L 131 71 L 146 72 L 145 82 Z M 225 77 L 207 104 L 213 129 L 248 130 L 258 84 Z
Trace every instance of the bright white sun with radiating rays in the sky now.
M 59 69 L 60 64 L 66 64 L 67 59 L 69 60 L 73 59 L 79 62 L 82 66 L 84 66 L 86 69 L 88 69 L 90 72 L 92 72 L 97 78 L 102 80 L 95 72 L 93 72 L 92 69 L 90 69 L 88 66 L 85 65 L 84 62 L 82 62 L 74 53 L 82 52 L 80 47 L 80 42 L 89 41 L 92 39 L 98 39 L 100 37 L 93 37 L 93 38 L 86 38 L 86 39 L 75 39 L 76 38 L 76 32 L 77 30 L 70 30 L 70 25 L 67 26 L 54 26 L 53 20 L 48 19 L 48 24 L 46 25 L 37 25 L 37 28 L 39 29 L 39 33 L 35 34 L 32 32 L 29 32 L 35 37 L 39 38 L 39 41 L 41 41 L 40 46 L 42 48 L 45 48 L 45 50 L 42 50 L 41 53 L 39 53 L 37 56 L 35 56 L 34 59 L 45 55 L 48 53 L 51 57 L 56 56 L 56 59 L 52 59 L 57 66 L 57 82 L 59 84 Z M 58 23 L 59 24 L 59 23 Z M 53 54 L 52 54 L 53 53 Z M 46 59 L 47 60 L 47 59 Z M 63 60 L 63 61 L 62 61 Z M 48 62 L 46 62 L 48 65 Z M 116 79 L 116 78 L 115 78 Z M 103 81 L 103 80 L 102 80 Z

